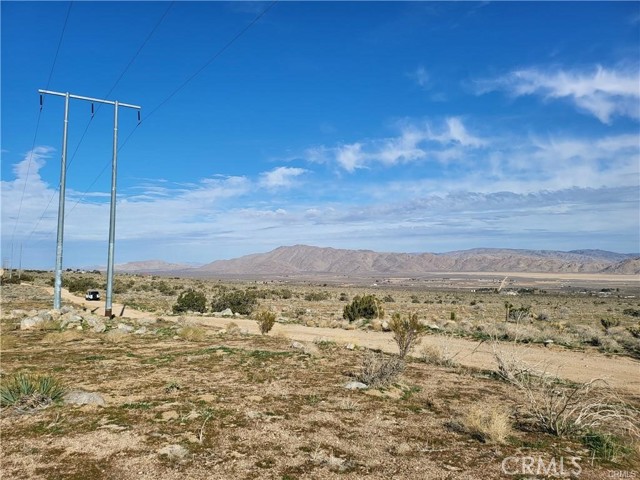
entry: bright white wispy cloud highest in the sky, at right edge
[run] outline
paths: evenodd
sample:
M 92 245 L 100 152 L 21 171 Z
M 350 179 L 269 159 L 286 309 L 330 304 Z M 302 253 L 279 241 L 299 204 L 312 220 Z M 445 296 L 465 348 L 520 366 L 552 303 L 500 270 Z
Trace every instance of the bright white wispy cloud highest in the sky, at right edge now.
M 640 118 L 640 70 L 637 68 L 614 69 L 600 65 L 589 71 L 528 68 L 476 83 L 479 94 L 494 90 L 504 90 L 514 96 L 567 99 L 606 124 L 617 116 Z

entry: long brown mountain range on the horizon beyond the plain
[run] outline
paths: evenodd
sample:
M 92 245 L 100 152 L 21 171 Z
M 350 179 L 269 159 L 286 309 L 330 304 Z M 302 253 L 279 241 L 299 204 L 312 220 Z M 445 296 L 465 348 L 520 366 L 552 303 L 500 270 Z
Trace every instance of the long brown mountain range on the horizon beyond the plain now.
M 478 248 L 448 253 L 379 253 L 371 250 L 294 245 L 268 253 L 232 260 L 217 260 L 193 270 L 209 275 L 419 275 L 427 272 L 557 272 L 597 273 L 620 262 L 631 262 L 623 271 L 634 270 L 634 255 L 601 250 L 559 252 Z

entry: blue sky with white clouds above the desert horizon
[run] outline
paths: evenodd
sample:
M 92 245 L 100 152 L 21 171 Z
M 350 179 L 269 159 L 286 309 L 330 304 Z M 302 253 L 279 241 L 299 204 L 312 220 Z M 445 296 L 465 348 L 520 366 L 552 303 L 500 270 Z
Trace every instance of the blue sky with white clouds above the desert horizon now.
M 640 3 L 278 2 L 223 49 L 270 5 L 3 1 L 3 261 L 55 260 L 46 87 L 143 107 L 116 263 L 640 250 Z M 65 267 L 106 264 L 113 107 L 90 119 L 72 100 Z

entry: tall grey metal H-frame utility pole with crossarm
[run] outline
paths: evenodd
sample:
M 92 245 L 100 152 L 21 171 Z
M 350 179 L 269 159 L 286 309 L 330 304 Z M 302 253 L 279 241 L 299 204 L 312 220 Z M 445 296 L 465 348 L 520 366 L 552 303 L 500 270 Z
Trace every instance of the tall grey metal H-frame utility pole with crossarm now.
M 104 314 L 111 316 L 112 296 L 113 296 L 113 253 L 115 248 L 115 224 L 116 224 L 116 173 L 118 159 L 118 108 L 133 108 L 138 110 L 138 122 L 140 122 L 140 109 L 138 105 L 130 105 L 128 103 L 120 103 L 118 101 L 103 100 L 92 97 L 82 97 L 80 95 L 72 95 L 69 92 L 52 92 L 50 90 L 38 90 L 40 94 L 40 106 L 42 108 L 42 95 L 55 95 L 65 97 L 64 108 L 64 130 L 62 134 L 62 165 L 60 172 L 60 200 L 58 205 L 58 238 L 56 243 L 56 270 L 53 289 L 53 308 L 60 309 L 61 293 L 62 293 L 62 244 L 64 237 L 64 202 L 65 202 L 65 185 L 67 176 L 67 129 L 69 124 L 69 99 L 85 100 L 92 103 L 91 112 L 93 115 L 94 103 L 105 103 L 113 105 L 115 108 L 114 125 L 113 125 L 113 157 L 111 165 L 111 211 L 109 221 L 109 252 L 107 260 L 107 298 Z

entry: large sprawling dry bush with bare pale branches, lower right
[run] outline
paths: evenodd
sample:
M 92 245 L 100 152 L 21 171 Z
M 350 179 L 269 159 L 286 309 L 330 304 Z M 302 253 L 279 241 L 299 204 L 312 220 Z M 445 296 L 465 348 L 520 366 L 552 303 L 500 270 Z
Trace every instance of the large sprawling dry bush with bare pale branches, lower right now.
M 640 412 L 620 401 L 604 380 L 566 383 L 495 346 L 494 357 L 498 375 L 523 394 L 526 414 L 541 430 L 559 437 L 593 430 L 640 435 Z

